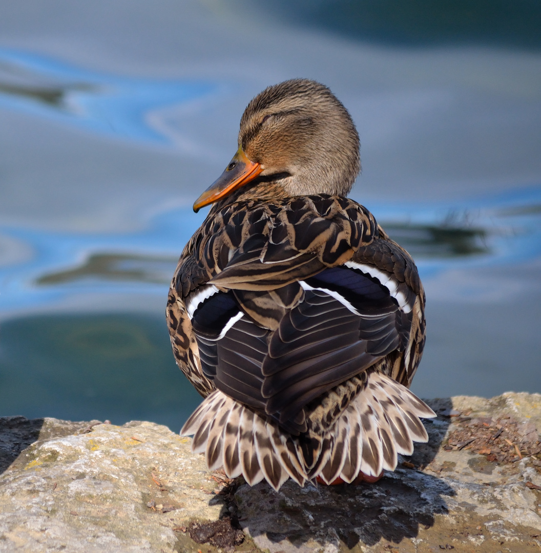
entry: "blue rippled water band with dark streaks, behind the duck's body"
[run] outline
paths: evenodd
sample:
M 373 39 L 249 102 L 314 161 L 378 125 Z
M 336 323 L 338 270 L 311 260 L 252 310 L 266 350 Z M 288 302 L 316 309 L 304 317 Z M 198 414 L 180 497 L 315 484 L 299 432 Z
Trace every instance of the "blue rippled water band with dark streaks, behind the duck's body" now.
M 429 281 L 453 270 L 516 267 L 541 259 L 540 206 L 541 187 L 532 187 L 464 205 L 368 207 L 414 255 Z M 178 255 L 201 222 L 201 215 L 185 207 L 154 215 L 143 231 L 134 233 L 0 227 L 0 248 L 18 244 L 26 252 L 10 258 L 6 249 L 0 263 L 3 316 L 29 307 L 54 309 L 70 295 L 89 302 L 93 294 L 165 298 Z

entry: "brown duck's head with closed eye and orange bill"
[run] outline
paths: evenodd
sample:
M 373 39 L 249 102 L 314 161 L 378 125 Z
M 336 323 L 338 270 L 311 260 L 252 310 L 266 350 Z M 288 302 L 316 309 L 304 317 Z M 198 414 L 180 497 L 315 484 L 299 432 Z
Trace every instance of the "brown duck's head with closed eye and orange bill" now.
M 342 103 L 319 82 L 284 81 L 248 104 L 237 153 L 194 211 L 252 198 L 346 196 L 359 170 L 359 137 Z

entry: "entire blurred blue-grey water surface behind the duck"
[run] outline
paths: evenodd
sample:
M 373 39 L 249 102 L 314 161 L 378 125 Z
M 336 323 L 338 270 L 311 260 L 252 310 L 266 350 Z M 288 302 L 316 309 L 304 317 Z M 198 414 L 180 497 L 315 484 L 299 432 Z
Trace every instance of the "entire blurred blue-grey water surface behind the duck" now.
M 0 2 L 0 415 L 180 428 L 190 206 L 251 97 L 299 76 L 350 110 L 351 196 L 418 263 L 414 392 L 541 392 L 541 8 L 405 6 Z

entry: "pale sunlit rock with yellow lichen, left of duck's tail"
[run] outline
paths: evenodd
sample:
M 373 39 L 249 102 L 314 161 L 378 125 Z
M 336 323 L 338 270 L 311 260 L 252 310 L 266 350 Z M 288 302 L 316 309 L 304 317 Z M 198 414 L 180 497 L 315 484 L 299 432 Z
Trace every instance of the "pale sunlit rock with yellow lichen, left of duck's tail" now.
M 37 434 L 38 421 L 1 421 L 4 452 L 6 427 Z M 174 528 L 216 520 L 225 509 L 189 439 L 150 422 L 85 429 L 87 422 L 44 419 L 38 441 L 2 474 L 0 551 L 174 551 Z

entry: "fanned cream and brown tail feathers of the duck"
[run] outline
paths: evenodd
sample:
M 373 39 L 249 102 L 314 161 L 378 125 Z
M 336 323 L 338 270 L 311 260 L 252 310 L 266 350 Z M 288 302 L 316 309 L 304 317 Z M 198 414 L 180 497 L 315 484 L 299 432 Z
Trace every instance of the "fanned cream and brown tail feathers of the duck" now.
M 393 471 L 397 455 L 410 455 L 413 442 L 428 435 L 420 417 L 433 410 L 392 378 L 368 375 L 366 387 L 324 436 L 294 437 L 264 415 L 216 390 L 190 416 L 181 435 L 194 435 L 192 451 L 205 453 L 210 469 L 230 478 L 241 474 L 253 486 L 263 479 L 278 490 L 288 478 L 304 486 L 317 476 L 352 482 L 363 472 Z M 305 451 L 310 447 L 314 451 Z M 306 462 L 309 461 L 309 462 Z

